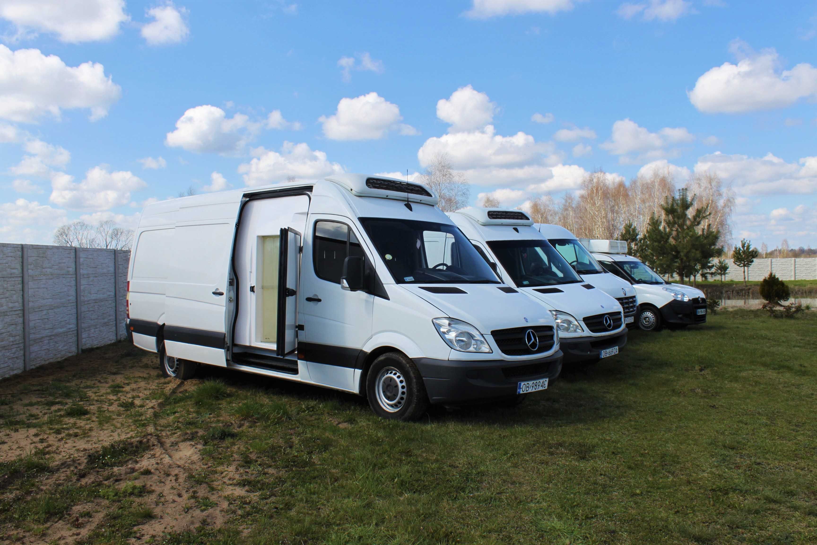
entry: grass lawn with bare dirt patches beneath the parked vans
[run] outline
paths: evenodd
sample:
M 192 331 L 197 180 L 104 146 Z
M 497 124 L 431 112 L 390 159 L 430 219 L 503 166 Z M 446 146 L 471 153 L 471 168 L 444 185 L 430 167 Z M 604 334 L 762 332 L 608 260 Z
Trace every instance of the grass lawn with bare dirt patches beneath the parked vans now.
M 417 423 L 105 347 L 0 382 L 0 541 L 815 543 L 815 331 L 634 331 L 520 407 Z

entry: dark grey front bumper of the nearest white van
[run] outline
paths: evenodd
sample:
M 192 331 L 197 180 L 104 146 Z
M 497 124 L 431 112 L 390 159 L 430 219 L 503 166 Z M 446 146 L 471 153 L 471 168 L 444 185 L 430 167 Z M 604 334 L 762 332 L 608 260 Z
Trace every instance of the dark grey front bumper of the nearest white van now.
M 537 360 L 432 360 L 415 358 L 432 404 L 462 404 L 516 395 L 522 381 L 547 378 L 561 372 L 562 353 Z

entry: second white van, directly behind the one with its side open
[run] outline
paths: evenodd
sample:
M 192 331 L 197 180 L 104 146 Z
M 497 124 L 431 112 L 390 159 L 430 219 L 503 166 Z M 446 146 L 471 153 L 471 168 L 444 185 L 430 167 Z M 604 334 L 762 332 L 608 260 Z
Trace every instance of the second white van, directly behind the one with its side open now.
M 627 343 L 621 305 L 577 275 L 525 212 L 464 208 L 449 217 L 505 283 L 550 311 L 565 361 L 605 358 Z

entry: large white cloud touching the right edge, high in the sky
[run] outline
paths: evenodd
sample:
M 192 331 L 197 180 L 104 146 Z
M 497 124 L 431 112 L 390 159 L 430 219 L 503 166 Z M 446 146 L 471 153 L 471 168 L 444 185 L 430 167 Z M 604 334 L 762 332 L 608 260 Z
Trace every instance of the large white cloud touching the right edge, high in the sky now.
M 817 68 L 808 63 L 783 70 L 777 51 L 751 50 L 736 40 L 730 51 L 733 65 L 709 69 L 689 92 L 690 102 L 707 114 L 740 114 L 759 109 L 784 108 L 801 100 L 817 100 Z

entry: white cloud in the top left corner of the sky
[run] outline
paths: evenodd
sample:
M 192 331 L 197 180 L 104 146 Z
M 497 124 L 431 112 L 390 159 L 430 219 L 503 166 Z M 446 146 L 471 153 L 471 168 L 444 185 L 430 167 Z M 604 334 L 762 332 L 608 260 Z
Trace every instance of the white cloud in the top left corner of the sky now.
M 70 43 L 112 38 L 130 19 L 125 0 L 0 0 L 0 17 L 16 26 L 12 39 L 46 33 Z

